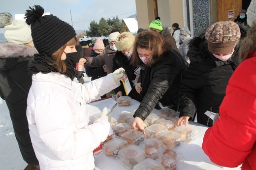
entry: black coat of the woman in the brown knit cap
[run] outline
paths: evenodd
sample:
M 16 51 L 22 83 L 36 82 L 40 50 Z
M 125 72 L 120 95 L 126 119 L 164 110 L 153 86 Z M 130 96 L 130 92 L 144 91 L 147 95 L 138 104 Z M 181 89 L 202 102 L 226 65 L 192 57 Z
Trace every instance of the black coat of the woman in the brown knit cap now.
M 190 116 L 192 120 L 197 113 L 198 123 L 212 126 L 212 119 L 204 113 L 219 113 L 228 80 L 239 64 L 238 49 L 222 61 L 208 51 L 204 34 L 192 38 L 187 54 L 191 62 L 179 90 L 180 117 Z

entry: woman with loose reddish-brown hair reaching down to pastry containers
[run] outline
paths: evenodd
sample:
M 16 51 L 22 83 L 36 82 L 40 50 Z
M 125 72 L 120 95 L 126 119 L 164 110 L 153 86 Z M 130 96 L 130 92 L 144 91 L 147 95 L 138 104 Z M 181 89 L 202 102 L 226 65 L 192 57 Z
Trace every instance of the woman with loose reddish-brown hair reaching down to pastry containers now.
M 143 30 L 134 42 L 131 63 L 140 66 L 140 78 L 135 87 L 141 96 L 139 108 L 134 113 L 131 128 L 138 127 L 145 134 L 143 121 L 160 102 L 177 110 L 178 90 L 187 65 L 181 55 L 170 48 L 155 31 Z

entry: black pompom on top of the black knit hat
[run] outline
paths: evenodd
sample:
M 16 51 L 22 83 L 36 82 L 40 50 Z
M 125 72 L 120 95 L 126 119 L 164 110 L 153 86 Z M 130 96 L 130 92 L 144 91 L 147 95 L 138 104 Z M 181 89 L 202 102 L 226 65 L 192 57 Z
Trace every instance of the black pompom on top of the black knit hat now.
M 34 5 L 34 8 L 30 7 L 30 9 L 31 10 L 26 10 L 25 13 L 26 23 L 28 25 L 31 25 L 34 22 L 36 22 L 39 18 L 42 17 L 44 13 L 44 9 L 40 5 Z

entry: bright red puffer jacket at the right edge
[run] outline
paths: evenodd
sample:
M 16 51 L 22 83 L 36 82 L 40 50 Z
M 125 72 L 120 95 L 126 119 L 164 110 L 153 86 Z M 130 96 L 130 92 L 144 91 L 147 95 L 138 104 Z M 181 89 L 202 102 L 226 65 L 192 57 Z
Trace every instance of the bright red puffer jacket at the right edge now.
M 205 132 L 202 148 L 220 166 L 256 170 L 256 53 L 231 76 L 220 118 Z

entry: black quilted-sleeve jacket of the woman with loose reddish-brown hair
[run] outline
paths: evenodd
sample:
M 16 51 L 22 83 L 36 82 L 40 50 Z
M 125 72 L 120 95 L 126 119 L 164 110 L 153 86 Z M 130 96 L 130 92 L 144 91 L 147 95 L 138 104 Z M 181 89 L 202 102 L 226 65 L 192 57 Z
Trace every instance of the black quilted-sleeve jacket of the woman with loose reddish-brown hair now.
M 134 113 L 143 121 L 151 113 L 157 102 L 170 109 L 177 110 L 178 90 L 181 79 L 185 76 L 187 65 L 176 51 L 166 51 L 152 66 L 144 64 L 140 79 L 142 91 L 141 103 Z

